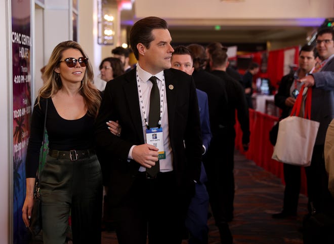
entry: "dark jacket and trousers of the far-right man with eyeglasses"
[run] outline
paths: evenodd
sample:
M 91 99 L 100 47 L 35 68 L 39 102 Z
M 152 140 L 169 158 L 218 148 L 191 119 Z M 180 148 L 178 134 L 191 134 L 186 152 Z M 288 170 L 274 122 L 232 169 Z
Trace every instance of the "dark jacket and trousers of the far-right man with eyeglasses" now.
M 315 85 L 312 87 L 311 120 L 320 123 L 311 166 L 306 167 L 309 211 L 311 202 L 317 212 L 333 211 L 334 200 L 328 190 L 328 175 L 324 166 L 323 150 L 328 125 L 334 118 L 334 58 L 312 74 Z

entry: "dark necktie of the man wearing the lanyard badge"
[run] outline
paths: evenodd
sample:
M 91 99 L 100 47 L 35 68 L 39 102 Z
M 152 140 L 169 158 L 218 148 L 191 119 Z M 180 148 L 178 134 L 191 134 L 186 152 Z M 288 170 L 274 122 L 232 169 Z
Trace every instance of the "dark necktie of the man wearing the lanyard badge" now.
M 158 126 L 160 117 L 160 92 L 156 83 L 156 77 L 152 76 L 149 80 L 153 83 L 150 95 L 150 113 L 148 117 L 148 125 L 150 128 Z M 146 168 L 146 173 L 150 178 L 155 178 L 160 171 L 159 160 L 155 162 L 155 166 L 151 169 Z

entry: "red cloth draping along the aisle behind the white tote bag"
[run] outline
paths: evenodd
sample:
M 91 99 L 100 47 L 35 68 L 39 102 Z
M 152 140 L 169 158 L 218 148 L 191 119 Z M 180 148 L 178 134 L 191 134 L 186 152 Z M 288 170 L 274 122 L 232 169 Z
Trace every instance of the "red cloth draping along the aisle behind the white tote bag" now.
M 235 126 L 235 146 L 236 149 L 240 150 L 240 152 L 244 154 L 247 159 L 253 160 L 256 165 L 279 177 L 284 184 L 283 163 L 271 158 L 274 147 L 269 141 L 269 131 L 277 121 L 278 117 L 249 109 L 249 129 L 251 131 L 249 149 L 246 152 L 242 149 L 242 131 L 238 122 Z M 307 194 L 304 168 L 302 168 L 301 193 L 305 195 Z

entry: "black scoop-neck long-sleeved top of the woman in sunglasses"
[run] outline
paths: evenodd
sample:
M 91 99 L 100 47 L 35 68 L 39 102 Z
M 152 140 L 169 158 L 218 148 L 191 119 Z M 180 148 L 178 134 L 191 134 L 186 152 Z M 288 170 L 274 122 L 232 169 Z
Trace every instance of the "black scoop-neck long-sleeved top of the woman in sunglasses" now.
M 48 99 L 47 132 L 49 136 L 49 148 L 52 150 L 69 151 L 93 148 L 94 141 L 94 117 L 87 113 L 78 119 L 68 120 L 62 118 L 52 102 Z M 40 99 L 40 107 L 37 100 L 32 111 L 30 138 L 26 157 L 26 178 L 36 177 L 39 152 L 43 141 L 44 118 L 46 99 Z

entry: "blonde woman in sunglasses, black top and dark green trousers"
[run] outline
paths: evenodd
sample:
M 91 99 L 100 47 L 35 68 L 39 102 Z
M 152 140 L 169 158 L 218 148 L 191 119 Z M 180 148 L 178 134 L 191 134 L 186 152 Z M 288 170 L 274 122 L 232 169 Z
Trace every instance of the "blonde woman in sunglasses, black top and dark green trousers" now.
M 101 96 L 92 66 L 79 44 L 66 41 L 53 50 L 43 78 L 32 112 L 23 221 L 29 226 L 46 116 L 50 151 L 39 174 L 44 243 L 65 242 L 70 213 L 74 243 L 101 243 L 102 174 L 93 149 Z

